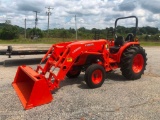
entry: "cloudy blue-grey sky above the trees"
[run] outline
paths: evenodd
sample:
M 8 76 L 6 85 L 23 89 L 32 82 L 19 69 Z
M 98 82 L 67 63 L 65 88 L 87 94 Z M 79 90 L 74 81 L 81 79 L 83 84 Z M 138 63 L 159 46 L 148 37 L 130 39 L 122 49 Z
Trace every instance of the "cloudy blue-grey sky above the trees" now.
M 35 26 L 38 11 L 38 28 L 47 29 L 47 8 L 53 7 L 50 28 L 87 29 L 114 27 L 118 17 L 135 15 L 139 27 L 152 26 L 160 29 L 160 0 L 0 0 L 0 23 L 11 20 L 13 25 L 27 28 Z M 119 21 L 119 25 L 134 26 L 134 19 Z

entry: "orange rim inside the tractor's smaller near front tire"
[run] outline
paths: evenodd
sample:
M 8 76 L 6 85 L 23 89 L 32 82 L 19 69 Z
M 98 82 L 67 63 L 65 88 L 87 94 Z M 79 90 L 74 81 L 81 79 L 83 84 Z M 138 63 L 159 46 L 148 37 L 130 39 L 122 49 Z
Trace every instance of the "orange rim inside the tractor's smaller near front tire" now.
M 101 70 L 95 70 L 92 73 L 92 82 L 94 84 L 99 84 L 102 81 L 103 75 Z

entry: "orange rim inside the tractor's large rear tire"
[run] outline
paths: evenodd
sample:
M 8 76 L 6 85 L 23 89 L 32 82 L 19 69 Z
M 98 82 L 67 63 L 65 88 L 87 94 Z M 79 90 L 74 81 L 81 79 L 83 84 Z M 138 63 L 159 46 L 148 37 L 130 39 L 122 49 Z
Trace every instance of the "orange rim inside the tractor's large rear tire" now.
M 133 59 L 132 69 L 135 73 L 139 73 L 144 66 L 144 58 L 141 54 L 137 54 Z

